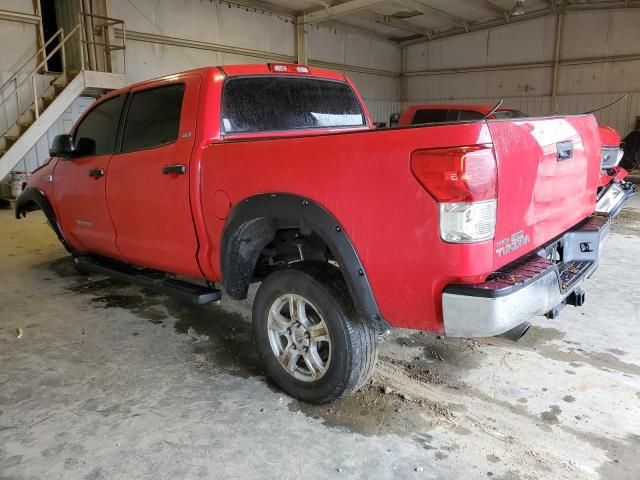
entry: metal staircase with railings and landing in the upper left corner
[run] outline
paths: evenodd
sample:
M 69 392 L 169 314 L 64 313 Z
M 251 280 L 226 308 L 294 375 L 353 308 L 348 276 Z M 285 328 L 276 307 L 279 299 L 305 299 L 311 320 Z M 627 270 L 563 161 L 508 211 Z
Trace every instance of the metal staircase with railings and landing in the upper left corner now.
M 114 27 L 121 29 L 115 44 Z M 98 97 L 125 85 L 124 22 L 81 13 L 78 24 L 58 30 L 0 87 L 0 180 L 8 175 L 35 143 L 81 95 Z M 77 48 L 71 48 L 73 44 Z M 47 51 L 48 50 L 48 51 Z M 111 52 L 121 50 L 122 73 L 114 73 Z M 47 61 L 60 52 L 62 72 L 43 74 Z M 79 58 L 68 62 L 68 53 Z M 35 64 L 35 66 L 33 66 Z M 44 85 L 43 85 L 44 84 Z

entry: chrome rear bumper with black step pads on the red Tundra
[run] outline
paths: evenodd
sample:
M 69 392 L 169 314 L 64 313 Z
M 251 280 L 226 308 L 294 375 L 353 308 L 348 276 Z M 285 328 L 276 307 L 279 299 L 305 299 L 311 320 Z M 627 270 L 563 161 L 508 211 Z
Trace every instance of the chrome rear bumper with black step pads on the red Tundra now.
M 555 317 L 564 305 L 581 306 L 580 285 L 595 271 L 609 228 L 608 216 L 594 214 L 484 283 L 447 285 L 442 295 L 445 334 L 499 335 L 536 315 Z

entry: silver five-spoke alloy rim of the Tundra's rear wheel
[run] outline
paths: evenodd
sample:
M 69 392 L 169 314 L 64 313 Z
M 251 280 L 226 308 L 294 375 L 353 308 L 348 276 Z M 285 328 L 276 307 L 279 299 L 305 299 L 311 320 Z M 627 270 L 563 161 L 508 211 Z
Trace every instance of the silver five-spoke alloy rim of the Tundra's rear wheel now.
M 280 366 L 304 382 L 322 378 L 331 363 L 331 337 L 318 309 L 301 295 L 287 293 L 271 304 L 269 344 Z

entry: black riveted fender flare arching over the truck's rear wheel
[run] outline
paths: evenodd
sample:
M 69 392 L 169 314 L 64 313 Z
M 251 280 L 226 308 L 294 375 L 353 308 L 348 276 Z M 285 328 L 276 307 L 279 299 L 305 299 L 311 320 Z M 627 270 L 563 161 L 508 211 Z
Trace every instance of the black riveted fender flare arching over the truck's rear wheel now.
M 284 193 L 263 193 L 238 203 L 225 222 L 220 248 L 222 281 L 227 293 L 247 297 L 260 253 L 281 228 L 299 227 L 318 235 L 334 255 L 358 313 L 379 330 L 389 329 L 351 239 L 322 205 Z

